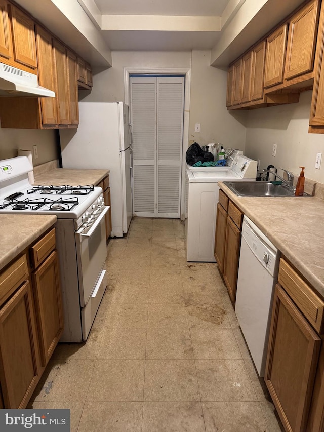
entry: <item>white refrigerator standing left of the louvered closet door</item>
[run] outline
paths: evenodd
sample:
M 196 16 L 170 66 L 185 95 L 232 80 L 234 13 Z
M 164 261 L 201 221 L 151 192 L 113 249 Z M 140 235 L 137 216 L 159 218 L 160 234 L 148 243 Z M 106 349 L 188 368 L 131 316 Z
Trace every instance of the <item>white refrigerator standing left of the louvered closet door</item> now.
M 123 102 L 79 103 L 77 130 L 61 129 L 63 168 L 109 169 L 111 237 L 123 237 L 133 216 L 132 127 Z

